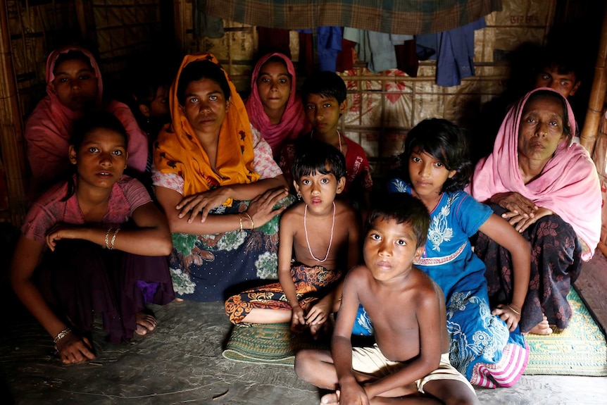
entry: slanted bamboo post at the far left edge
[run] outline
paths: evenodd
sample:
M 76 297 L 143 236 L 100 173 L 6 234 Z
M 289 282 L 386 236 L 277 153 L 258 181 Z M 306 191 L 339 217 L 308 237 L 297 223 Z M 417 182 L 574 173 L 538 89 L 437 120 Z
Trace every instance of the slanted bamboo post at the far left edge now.
M 25 216 L 25 151 L 17 86 L 13 73 L 11 37 L 8 35 L 6 1 L 0 0 L 0 148 L 6 173 L 11 223 L 21 225 Z

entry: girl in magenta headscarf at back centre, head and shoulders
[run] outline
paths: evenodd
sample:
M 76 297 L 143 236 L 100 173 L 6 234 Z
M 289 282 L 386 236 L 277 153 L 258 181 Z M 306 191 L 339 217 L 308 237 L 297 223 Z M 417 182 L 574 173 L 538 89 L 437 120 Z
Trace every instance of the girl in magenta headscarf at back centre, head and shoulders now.
M 246 113 L 251 125 L 261 132 L 275 160 L 285 141 L 309 132 L 311 127 L 296 96 L 295 68 L 291 59 L 274 53 L 263 56 L 251 77 L 251 94 L 246 100 Z

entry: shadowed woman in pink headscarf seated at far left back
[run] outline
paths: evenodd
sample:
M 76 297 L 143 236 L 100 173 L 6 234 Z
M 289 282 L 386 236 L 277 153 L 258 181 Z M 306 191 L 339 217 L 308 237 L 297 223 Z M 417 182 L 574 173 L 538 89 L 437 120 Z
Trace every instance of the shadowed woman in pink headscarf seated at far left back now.
M 68 149 L 74 120 L 85 112 L 104 109 L 124 125 L 129 136 L 128 167 L 143 173 L 147 139 L 130 108 L 118 101 L 104 102 L 101 71 L 93 55 L 80 46 L 52 51 L 46 60 L 46 96 L 25 124 L 27 159 L 32 169 L 30 197 L 69 172 Z

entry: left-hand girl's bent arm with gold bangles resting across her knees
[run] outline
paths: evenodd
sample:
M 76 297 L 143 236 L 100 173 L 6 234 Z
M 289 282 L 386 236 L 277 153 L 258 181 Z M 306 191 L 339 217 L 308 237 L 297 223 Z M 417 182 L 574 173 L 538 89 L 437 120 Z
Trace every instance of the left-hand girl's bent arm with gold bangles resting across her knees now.
M 46 235 L 46 244 L 54 250 L 61 239 L 82 239 L 108 246 L 127 253 L 142 256 L 168 256 L 173 248 L 173 241 L 168 230 L 168 222 L 163 213 L 151 201 L 137 207 L 133 212 L 137 229 L 106 228 L 56 224 Z

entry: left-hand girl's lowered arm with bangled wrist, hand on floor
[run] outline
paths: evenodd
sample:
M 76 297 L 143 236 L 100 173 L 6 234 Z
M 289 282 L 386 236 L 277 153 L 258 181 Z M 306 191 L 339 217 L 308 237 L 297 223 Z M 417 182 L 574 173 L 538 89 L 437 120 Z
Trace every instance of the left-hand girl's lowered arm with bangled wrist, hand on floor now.
M 68 328 L 63 320 L 51 311 L 42 297 L 40 290 L 32 280 L 34 270 L 42 256 L 44 244 L 21 236 L 13 253 L 11 262 L 11 285 L 17 297 L 23 302 L 25 308 L 38 320 L 40 325 L 51 335 L 56 337 L 59 332 Z M 65 342 L 65 340 L 69 342 Z M 61 349 L 59 348 L 60 343 Z M 92 345 L 85 337 L 75 337 L 69 334 L 58 341 L 58 351 L 63 363 L 77 363 L 86 359 L 94 359 Z

